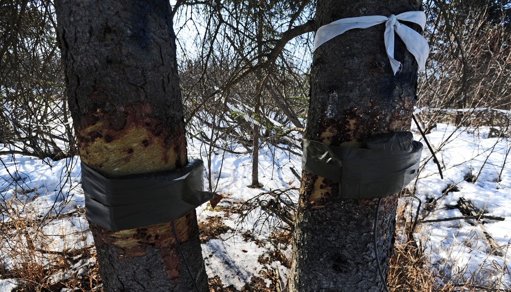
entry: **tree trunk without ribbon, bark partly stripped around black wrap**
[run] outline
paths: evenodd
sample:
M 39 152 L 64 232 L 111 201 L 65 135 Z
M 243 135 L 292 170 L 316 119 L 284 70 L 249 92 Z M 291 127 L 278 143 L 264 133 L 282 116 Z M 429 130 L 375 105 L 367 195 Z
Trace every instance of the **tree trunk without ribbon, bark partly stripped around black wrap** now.
M 55 9 L 82 162 L 114 178 L 186 165 L 169 2 L 56 0 Z M 193 290 L 170 222 L 119 232 L 90 225 L 105 291 Z M 175 225 L 207 291 L 195 212 Z

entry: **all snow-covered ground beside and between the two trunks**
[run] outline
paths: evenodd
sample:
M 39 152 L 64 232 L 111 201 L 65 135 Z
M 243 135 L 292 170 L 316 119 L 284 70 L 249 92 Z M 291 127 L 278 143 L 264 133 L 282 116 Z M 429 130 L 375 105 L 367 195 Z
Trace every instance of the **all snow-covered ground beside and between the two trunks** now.
M 428 140 L 435 150 L 440 149 L 437 158 L 444 178 L 440 178 L 437 165 L 425 148 L 423 168 L 418 179 L 408 186 L 416 198 L 402 198 L 401 204 L 406 206 L 407 220 L 411 221 L 420 203 L 419 224 L 414 236 L 428 255 L 433 269 L 448 277 L 465 277 L 464 280 L 493 283 L 494 288 L 509 289 L 511 156 L 507 153 L 511 141 L 488 138 L 490 131 L 489 127 L 455 130 L 452 126 L 438 124 L 428 135 Z M 420 136 L 416 139 L 421 140 Z M 188 148 L 191 158 L 202 157 L 205 163 L 208 162 L 204 150 L 208 147 L 204 144 L 193 140 L 189 141 Z M 242 147 L 237 150 L 246 152 Z M 78 158 L 45 162 L 29 156 L 4 155 L 0 159 L 4 165 L 0 169 L 0 220 L 3 226 L 0 263 L 4 269 L 28 261 L 48 266 L 55 253 L 72 253 L 93 246 L 84 218 Z M 257 277 L 270 286 L 270 279 L 277 281 L 280 277 L 285 280 L 288 273 L 281 261 L 264 260 L 271 258 L 266 255 L 276 252 L 284 259 L 291 255 L 289 246 L 268 240 L 276 229 L 272 229 L 268 222 L 263 224 L 260 219 L 270 213 L 256 209 L 247 211 L 245 216 L 247 212 L 235 211 L 242 209 L 243 202 L 277 189 L 290 189 L 285 192 L 286 198 L 296 201 L 296 188 L 300 182 L 290 167 L 301 173 L 300 157 L 265 146 L 261 149 L 259 163 L 259 182 L 263 187 L 252 189 L 247 187 L 251 184 L 250 153 L 233 154 L 221 150 L 212 153 L 211 185 L 225 199 L 215 209 L 209 204 L 197 208 L 199 221 L 219 218 L 219 223 L 226 226 L 225 233 L 205 241 L 202 248 L 208 276 L 216 277 L 231 290 L 241 290 Z M 463 202 L 469 202 L 466 204 L 475 208 L 474 216 L 493 217 L 483 219 L 484 224 L 479 224 L 476 219 L 452 219 L 467 215 L 459 209 Z M 49 217 L 53 219 L 45 220 Z M 25 225 L 17 226 L 20 220 L 14 218 L 26 218 L 21 220 Z M 37 254 L 29 256 L 20 251 L 20 246 L 32 248 Z M 94 261 L 93 258 L 76 259 L 72 261 L 72 271 L 85 273 Z M 71 277 L 69 273 L 56 272 L 54 281 Z M 263 276 L 269 274 L 278 276 Z M 0 279 L 0 291 L 11 291 L 19 281 Z

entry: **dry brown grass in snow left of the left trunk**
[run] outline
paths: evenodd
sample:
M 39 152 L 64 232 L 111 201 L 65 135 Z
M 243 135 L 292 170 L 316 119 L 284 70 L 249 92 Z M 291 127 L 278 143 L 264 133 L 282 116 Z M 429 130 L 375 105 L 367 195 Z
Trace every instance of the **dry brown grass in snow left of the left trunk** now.
M 28 204 L 10 203 L 2 210 L 0 275 L 15 279 L 16 292 L 102 291 L 90 231 L 69 228 L 86 224 L 80 210 L 41 219 Z

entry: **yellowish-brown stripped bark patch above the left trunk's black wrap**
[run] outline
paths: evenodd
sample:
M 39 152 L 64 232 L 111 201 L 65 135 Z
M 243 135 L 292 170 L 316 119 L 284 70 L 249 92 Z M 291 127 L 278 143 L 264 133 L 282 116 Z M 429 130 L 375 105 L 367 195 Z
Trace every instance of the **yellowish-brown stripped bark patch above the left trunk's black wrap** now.
M 169 132 L 165 129 L 159 120 L 150 116 L 152 110 L 149 104 L 128 105 L 120 109 L 123 114 L 105 114 L 98 109 L 90 114 L 93 118 L 84 117 L 76 127 L 79 150 L 86 154 L 82 155 L 86 165 L 101 169 L 103 173 L 112 173 L 120 165 L 129 169 L 129 173 L 116 175 L 159 171 L 183 165 L 186 158 L 177 154 L 186 152 L 183 151 L 186 145 L 183 130 L 170 129 L 172 132 Z M 115 113 L 121 113 L 120 109 Z M 91 124 L 87 124 L 91 121 Z M 114 128 L 113 125 L 122 126 Z M 156 165 L 160 165 L 159 169 L 154 168 Z

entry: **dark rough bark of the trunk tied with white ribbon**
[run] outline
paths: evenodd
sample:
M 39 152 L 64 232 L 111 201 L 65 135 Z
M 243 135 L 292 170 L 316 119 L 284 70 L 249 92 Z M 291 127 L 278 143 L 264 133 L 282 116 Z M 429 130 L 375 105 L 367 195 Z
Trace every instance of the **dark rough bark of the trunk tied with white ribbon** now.
M 364 15 L 420 9 L 410 0 L 319 0 L 316 25 Z M 384 47 L 385 25 L 350 30 L 316 50 L 305 138 L 358 147 L 382 132 L 410 128 L 417 64 L 396 37 L 396 76 Z M 290 291 L 383 291 L 373 244 L 374 200 L 342 200 L 337 183 L 303 172 L 293 235 Z M 397 197 L 382 201 L 377 251 L 386 275 L 393 249 Z

